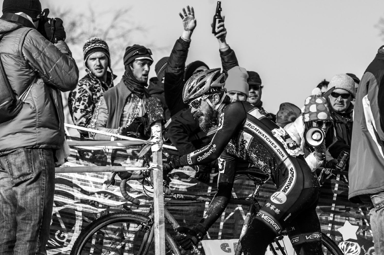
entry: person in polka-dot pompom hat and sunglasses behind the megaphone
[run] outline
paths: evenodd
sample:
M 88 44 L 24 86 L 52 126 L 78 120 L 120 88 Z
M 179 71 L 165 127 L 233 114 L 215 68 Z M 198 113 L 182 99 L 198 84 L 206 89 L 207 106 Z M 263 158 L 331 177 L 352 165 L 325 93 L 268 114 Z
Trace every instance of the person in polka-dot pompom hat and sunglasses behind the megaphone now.
M 304 138 L 310 127 L 318 127 L 325 134 L 324 141 L 317 147 L 310 146 Z M 323 164 L 324 156 L 328 166 L 337 162 L 328 151 L 329 147 L 336 142 L 336 137 L 333 135 L 333 120 L 329 113 L 328 103 L 323 96 L 312 95 L 306 98 L 303 113 L 294 122 L 286 124 L 284 129 L 296 143 L 300 144 L 305 153 L 305 160 L 312 171 Z

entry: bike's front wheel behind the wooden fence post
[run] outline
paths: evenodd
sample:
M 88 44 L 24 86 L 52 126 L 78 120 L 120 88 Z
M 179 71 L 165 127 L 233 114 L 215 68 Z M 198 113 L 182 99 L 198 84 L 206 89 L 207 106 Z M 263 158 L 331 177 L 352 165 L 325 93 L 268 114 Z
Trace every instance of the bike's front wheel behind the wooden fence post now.
M 95 220 L 84 229 L 71 255 L 154 255 L 154 238 L 149 243 L 152 222 L 134 212 L 116 212 Z M 153 233 L 153 232 L 152 232 Z M 181 255 L 179 247 L 166 231 L 166 254 Z

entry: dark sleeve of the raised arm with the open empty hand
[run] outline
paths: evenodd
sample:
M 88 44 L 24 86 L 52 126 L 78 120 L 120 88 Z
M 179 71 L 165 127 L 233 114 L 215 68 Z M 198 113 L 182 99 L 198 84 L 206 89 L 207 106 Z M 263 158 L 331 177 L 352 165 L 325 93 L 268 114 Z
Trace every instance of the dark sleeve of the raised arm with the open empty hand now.
M 183 102 L 182 93 L 189 45 L 190 41 L 184 41 L 180 37 L 176 41 L 167 62 L 164 75 L 164 96 L 171 116 L 188 107 Z

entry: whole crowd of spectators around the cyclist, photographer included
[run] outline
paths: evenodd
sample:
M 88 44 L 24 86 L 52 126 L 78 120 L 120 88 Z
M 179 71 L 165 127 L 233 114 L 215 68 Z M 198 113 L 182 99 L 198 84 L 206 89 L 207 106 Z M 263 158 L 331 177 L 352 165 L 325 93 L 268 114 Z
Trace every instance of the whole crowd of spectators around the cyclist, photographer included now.
M 42 19 L 39 22 L 43 24 L 36 24 L 41 12 L 38 0 L 3 1 L 2 68 L 17 98 L 25 91 L 28 94 L 20 113 L 0 123 L 1 254 L 8 254 L 8 248 L 20 249 L 20 254 L 29 254 L 26 251 L 30 249 L 43 253 L 47 242 L 54 162 L 60 162 L 65 144 L 60 91 L 70 91 L 68 107 L 76 126 L 147 140 L 151 138 L 151 124 L 160 120 L 163 142 L 175 146 L 180 155 L 206 146 L 217 131 L 217 126 L 206 128 L 210 125 L 198 121 L 201 116 L 192 113 L 182 99 L 185 82 L 195 73 L 212 68 L 205 59 L 187 64 L 197 26 L 193 7 L 187 6 L 179 13 L 183 29 L 169 56 L 154 60 L 145 45 L 127 45 L 121 56 L 125 71 L 120 81 L 115 80 L 111 68 L 108 41 L 100 37 L 84 42 L 83 64 L 87 73 L 79 79 L 65 43 L 65 33 L 70 31 L 65 31 L 63 22 L 56 18 L 55 30 L 51 30 L 55 32 L 50 35 Z M 281 102 L 279 111 L 273 114 L 263 108 L 262 78 L 257 70 L 243 68 L 236 49 L 228 45 L 224 21 L 218 23 L 213 36 L 218 41 L 217 57 L 221 59 L 231 103 L 248 101 L 284 128 L 300 145 L 307 164 L 319 179 L 327 175 L 324 169 L 348 172 L 349 199 L 367 204 L 376 254 L 384 254 L 383 47 L 361 80 L 352 73 L 336 70 L 329 81 L 313 84 L 311 95 L 303 98 L 302 105 Z M 150 78 L 153 66 L 156 77 Z M 162 113 L 151 112 L 159 107 Z M 323 133 L 319 144 L 308 138 L 313 127 Z M 81 139 L 111 139 L 92 131 L 79 132 Z M 350 155 L 350 159 L 339 167 L 343 155 Z M 36 164 L 39 167 L 34 167 Z M 210 173 L 217 169 L 217 161 L 194 168 L 195 177 L 207 182 Z M 41 190 L 45 188 L 48 191 Z

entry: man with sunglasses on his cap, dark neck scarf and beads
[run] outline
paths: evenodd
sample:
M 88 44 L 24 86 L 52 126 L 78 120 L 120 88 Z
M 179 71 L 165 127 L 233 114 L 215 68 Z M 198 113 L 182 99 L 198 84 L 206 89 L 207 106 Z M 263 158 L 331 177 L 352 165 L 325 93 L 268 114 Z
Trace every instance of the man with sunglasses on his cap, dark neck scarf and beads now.
M 145 87 L 153 63 L 151 55 L 152 51 L 142 45 L 126 48 L 124 75 L 119 84 L 108 89 L 98 101 L 92 117 L 94 129 L 144 139 L 150 136 L 150 123 L 144 114 L 150 97 Z M 89 132 L 89 137 L 95 140 L 111 139 L 110 136 L 92 132 Z

